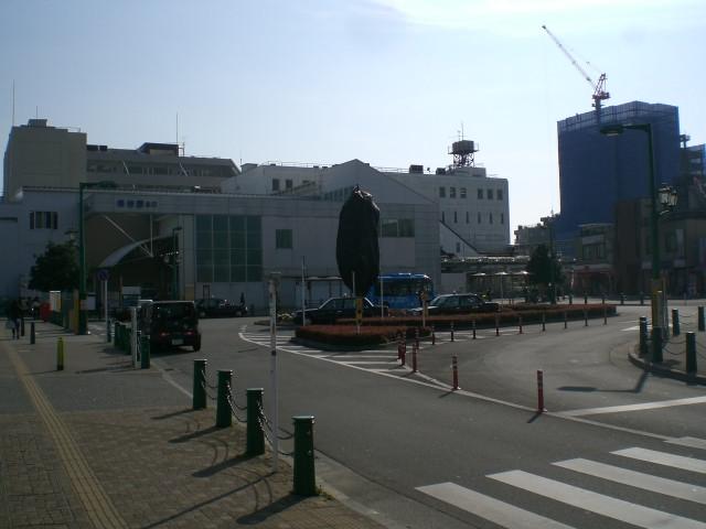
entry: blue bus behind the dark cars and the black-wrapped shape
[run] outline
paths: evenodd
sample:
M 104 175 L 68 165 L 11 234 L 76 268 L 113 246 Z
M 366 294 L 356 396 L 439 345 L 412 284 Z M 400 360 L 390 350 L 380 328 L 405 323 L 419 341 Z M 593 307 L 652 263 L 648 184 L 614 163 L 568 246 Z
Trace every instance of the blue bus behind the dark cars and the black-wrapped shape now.
M 391 309 L 416 309 L 421 306 L 419 293 L 425 291 L 427 300 L 435 296 L 434 281 L 424 273 L 385 273 L 377 278 L 366 298 L 375 305 Z

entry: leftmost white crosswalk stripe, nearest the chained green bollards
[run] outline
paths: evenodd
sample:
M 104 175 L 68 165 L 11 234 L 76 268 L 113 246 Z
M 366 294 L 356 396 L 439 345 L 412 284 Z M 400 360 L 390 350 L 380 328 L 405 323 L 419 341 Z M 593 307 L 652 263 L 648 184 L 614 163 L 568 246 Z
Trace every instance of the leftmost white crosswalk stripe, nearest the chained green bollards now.
M 461 487 L 456 483 L 427 485 L 417 487 L 417 490 L 507 529 L 536 529 L 537 527 L 571 529 L 571 526 L 535 515 L 514 505 Z

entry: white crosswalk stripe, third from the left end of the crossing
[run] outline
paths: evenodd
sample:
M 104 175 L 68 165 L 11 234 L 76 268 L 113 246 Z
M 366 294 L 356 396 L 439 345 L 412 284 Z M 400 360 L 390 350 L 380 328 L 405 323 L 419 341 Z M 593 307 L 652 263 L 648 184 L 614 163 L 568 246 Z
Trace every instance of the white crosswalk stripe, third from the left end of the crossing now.
M 706 488 L 688 483 L 675 482 L 663 477 L 634 472 L 619 466 L 606 465 L 597 461 L 584 458 L 559 461 L 553 463 L 561 468 L 580 472 L 590 476 L 609 479 L 611 482 L 630 485 L 632 487 L 664 494 L 674 498 L 687 499 L 697 504 L 706 504 Z

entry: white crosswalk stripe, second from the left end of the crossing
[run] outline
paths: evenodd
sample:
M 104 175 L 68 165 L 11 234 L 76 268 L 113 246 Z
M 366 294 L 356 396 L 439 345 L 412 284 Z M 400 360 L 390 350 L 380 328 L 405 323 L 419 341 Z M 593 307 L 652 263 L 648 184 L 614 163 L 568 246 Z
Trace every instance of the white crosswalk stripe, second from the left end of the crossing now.
M 590 510 L 591 512 L 645 529 L 706 529 L 706 523 L 700 521 L 611 498 L 610 496 L 536 476 L 524 471 L 502 472 L 488 477 L 579 509 Z

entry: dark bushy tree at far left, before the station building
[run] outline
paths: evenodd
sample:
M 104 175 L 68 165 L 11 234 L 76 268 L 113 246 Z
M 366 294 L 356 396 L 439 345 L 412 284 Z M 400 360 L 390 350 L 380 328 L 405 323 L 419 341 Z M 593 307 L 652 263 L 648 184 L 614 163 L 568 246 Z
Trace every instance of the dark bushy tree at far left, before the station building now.
M 49 242 L 30 271 L 30 289 L 73 290 L 78 288 L 78 249 L 74 241 Z

